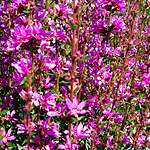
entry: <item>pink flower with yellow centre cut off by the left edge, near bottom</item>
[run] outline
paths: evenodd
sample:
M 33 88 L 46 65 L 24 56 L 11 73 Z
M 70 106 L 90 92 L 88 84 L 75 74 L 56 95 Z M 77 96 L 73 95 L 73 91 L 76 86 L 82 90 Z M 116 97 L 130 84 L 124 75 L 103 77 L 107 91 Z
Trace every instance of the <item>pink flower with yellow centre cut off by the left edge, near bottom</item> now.
M 12 129 L 10 128 L 6 134 L 5 129 L 3 127 L 0 128 L 0 131 L 2 132 L 2 139 L 0 143 L 8 143 L 8 141 L 12 141 L 16 138 L 16 136 L 10 136 Z

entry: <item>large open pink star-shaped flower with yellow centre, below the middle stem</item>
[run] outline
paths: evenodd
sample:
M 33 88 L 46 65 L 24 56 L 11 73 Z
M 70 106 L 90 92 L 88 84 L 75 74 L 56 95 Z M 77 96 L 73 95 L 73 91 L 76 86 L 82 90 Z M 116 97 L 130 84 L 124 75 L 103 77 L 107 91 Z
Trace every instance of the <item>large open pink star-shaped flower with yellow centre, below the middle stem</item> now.
M 74 97 L 73 102 L 71 102 L 68 98 L 66 98 L 66 104 L 70 109 L 69 110 L 70 115 L 74 115 L 77 119 L 79 117 L 78 114 L 86 113 L 85 110 L 82 110 L 86 105 L 86 101 L 83 101 L 80 104 L 78 104 L 77 97 Z

